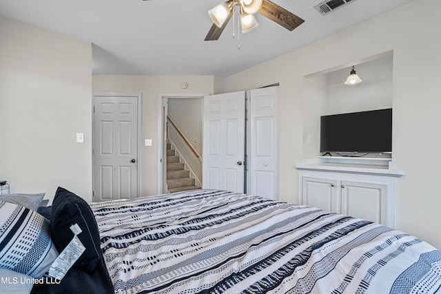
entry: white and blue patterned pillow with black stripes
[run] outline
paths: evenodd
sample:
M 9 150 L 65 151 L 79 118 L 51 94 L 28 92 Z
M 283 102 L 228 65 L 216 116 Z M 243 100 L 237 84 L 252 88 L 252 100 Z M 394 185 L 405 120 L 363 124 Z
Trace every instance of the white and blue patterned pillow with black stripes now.
M 0 268 L 42 277 L 58 256 L 49 227 L 39 213 L 0 201 Z

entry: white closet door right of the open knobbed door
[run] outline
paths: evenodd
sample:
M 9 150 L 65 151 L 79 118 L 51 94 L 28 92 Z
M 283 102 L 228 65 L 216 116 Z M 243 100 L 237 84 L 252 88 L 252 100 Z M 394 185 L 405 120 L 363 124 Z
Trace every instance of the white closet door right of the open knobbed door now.
M 278 200 L 278 87 L 249 91 L 247 193 Z

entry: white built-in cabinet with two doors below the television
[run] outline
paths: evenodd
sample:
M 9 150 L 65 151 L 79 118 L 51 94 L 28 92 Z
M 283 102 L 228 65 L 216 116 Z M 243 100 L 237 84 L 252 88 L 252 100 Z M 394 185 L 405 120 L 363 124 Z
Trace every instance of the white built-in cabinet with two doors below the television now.
M 396 227 L 396 185 L 403 171 L 375 165 L 296 165 L 299 204 Z

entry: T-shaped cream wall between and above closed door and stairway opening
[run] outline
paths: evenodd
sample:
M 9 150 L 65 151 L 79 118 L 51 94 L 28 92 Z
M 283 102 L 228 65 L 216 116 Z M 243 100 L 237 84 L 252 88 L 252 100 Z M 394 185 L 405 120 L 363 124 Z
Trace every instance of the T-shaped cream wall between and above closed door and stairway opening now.
M 181 83 L 188 83 L 181 89 Z M 213 94 L 213 76 L 125 76 L 94 75 L 92 90 L 99 92 L 141 93 L 141 140 L 152 139 L 152 146 L 141 148 L 141 195 L 156 195 L 156 171 L 158 165 L 158 96 L 162 93 Z

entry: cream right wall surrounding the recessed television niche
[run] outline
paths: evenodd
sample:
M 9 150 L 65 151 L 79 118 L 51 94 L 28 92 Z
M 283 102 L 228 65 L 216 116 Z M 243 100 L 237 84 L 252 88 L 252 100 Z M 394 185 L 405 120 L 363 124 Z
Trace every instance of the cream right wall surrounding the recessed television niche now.
M 406 172 L 398 180 L 397 227 L 441 248 L 440 9 L 441 1 L 414 0 L 227 78 L 228 92 L 280 83 L 280 200 L 297 201 L 295 165 L 303 160 L 309 116 L 305 76 L 393 50 L 393 168 Z

